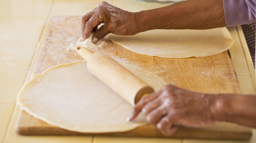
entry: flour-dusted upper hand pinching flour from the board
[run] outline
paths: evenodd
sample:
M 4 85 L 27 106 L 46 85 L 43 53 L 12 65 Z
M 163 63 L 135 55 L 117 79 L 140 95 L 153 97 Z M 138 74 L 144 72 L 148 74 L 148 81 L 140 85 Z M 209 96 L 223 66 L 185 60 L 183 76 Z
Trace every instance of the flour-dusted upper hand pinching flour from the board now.
M 96 8 L 82 17 L 81 32 L 83 40 L 87 39 L 91 32 L 95 32 L 93 43 L 104 38 L 107 34 L 134 35 L 136 30 L 136 13 L 128 12 L 114 7 L 107 2 L 101 2 Z M 104 23 L 99 29 L 98 25 Z

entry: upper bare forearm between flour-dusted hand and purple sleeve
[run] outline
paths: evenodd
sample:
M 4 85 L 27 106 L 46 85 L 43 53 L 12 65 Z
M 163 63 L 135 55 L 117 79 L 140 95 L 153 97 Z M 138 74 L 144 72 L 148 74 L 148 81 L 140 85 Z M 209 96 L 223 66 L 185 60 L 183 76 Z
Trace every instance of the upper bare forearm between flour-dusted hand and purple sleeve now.
M 222 0 L 187 0 L 136 13 L 139 32 L 152 29 L 211 29 L 225 26 Z

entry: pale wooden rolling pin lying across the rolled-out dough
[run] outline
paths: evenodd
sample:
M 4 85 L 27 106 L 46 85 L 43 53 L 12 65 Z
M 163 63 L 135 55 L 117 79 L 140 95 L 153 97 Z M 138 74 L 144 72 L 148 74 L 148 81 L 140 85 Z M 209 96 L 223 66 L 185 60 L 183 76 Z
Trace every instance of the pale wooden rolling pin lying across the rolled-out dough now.
M 154 92 L 146 82 L 106 54 L 93 53 L 81 46 L 77 46 L 76 51 L 87 61 L 90 72 L 133 106 L 140 98 Z

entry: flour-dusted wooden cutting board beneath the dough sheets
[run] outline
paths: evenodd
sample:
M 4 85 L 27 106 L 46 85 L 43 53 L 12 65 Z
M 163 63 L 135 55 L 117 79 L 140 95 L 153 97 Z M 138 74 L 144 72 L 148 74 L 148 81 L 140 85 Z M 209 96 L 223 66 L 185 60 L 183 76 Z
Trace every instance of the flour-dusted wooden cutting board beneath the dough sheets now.
M 67 52 L 71 42 L 81 37 L 81 16 L 56 16 L 45 28 L 41 38 L 41 47 L 34 74 L 39 74 L 47 68 L 61 63 L 83 60 L 76 51 Z M 167 83 L 177 87 L 202 93 L 240 93 L 232 60 L 228 51 L 207 57 L 190 57 L 183 59 L 145 56 L 126 50 L 125 48 L 104 39 L 107 45 L 91 49 L 102 51 L 120 62 L 133 64 L 152 71 Z M 16 132 L 21 135 L 117 135 L 117 136 L 148 136 L 163 137 L 152 125 L 138 127 L 122 133 L 88 134 L 77 133 L 52 126 L 26 113 L 20 112 L 16 123 Z M 170 137 L 182 138 L 213 138 L 213 139 L 249 139 L 252 136 L 250 128 L 217 122 L 205 128 L 180 128 Z

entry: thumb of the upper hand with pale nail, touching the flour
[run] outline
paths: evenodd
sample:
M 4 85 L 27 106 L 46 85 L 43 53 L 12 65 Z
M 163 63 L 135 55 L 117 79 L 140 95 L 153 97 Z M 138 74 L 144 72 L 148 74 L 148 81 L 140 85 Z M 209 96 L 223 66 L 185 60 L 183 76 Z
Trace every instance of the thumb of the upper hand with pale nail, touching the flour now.
M 108 24 L 104 24 L 93 34 L 92 42 L 96 43 L 98 40 L 104 38 L 106 35 L 110 33 Z

